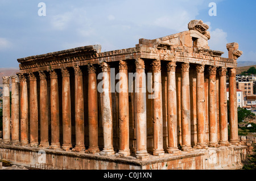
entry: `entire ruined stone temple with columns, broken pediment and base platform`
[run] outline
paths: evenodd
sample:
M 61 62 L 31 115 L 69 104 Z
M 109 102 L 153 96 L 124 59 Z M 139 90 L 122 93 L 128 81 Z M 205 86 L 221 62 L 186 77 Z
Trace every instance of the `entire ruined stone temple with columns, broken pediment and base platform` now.
M 229 43 L 221 57 L 207 30 L 192 20 L 188 31 L 134 48 L 90 45 L 18 59 L 20 72 L 3 77 L 0 156 L 59 169 L 241 169 L 242 52 Z

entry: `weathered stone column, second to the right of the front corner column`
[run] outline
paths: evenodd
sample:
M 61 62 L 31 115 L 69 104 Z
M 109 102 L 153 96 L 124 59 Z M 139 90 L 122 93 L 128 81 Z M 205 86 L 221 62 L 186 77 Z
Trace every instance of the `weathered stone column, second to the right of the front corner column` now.
M 176 62 L 167 64 L 167 131 L 168 153 L 179 153 L 177 144 L 177 98 L 176 98 Z

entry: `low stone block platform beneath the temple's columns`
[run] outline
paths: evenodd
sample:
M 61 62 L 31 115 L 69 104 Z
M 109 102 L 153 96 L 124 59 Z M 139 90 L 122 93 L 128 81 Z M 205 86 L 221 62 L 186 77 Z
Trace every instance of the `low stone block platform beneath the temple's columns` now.
M 126 158 L 115 155 L 95 155 L 72 151 L 26 148 L 0 144 L 0 158 L 16 165 L 40 169 L 71 170 L 220 170 L 241 169 L 246 156 L 246 146 L 222 146 L 219 148 L 180 151 L 149 155 L 139 161 L 135 156 Z

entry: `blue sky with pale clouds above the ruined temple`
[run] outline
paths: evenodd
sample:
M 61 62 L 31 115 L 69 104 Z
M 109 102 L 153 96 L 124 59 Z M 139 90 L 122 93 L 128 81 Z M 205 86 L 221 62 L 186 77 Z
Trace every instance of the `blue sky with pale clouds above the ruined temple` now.
M 46 4 L 39 16 L 38 4 Z M 209 16 L 209 3 L 217 16 Z M 240 61 L 256 61 L 256 1 L 232 0 L 0 0 L 0 68 L 18 58 L 101 44 L 102 52 L 131 48 L 139 39 L 187 31 L 192 19 L 209 25 L 209 47 L 225 52 L 237 42 Z

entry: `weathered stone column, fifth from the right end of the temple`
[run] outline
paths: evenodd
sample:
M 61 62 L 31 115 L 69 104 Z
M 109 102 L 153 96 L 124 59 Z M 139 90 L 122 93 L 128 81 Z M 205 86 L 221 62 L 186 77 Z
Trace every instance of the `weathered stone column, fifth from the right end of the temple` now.
M 181 150 L 191 151 L 189 63 L 181 64 Z

